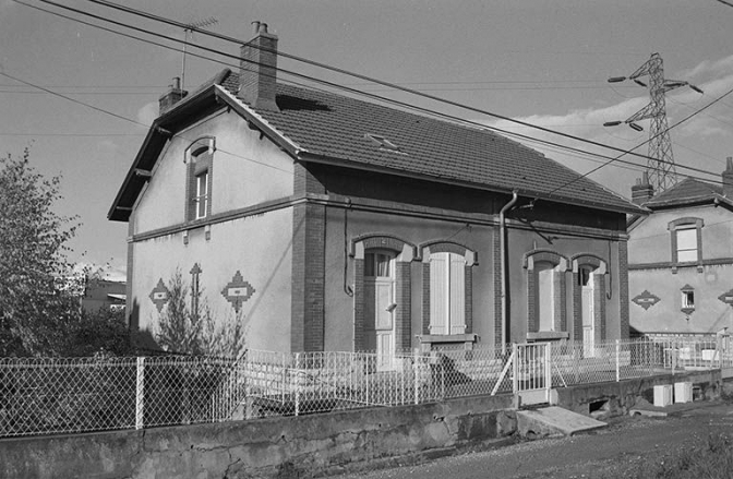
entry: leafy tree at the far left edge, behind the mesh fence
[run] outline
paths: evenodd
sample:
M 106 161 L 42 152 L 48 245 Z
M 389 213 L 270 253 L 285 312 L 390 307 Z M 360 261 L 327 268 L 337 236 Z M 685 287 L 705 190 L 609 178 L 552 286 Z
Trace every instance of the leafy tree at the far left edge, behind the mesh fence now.
M 67 260 L 76 217 L 57 215 L 60 178 L 44 178 L 29 151 L 0 158 L 0 356 L 58 355 L 80 314 Z

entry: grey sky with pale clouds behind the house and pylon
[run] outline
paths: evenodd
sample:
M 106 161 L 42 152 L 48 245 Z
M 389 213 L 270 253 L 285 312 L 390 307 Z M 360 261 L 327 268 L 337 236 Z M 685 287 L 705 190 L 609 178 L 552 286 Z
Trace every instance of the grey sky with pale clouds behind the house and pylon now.
M 666 94 L 670 125 L 692 116 L 670 131 L 677 172 L 720 181 L 725 158 L 733 156 L 733 94 L 723 96 L 733 88 L 733 7 L 720 0 L 116 1 L 187 24 L 209 23 L 208 29 L 242 41 L 252 36 L 251 23 L 262 21 L 278 35 L 281 52 L 471 109 L 286 58 L 278 60 L 283 69 L 608 157 L 617 152 L 500 118 L 633 148 L 648 140 L 649 120 L 639 122 L 641 132 L 603 123 L 644 108 L 648 89 L 606 80 L 628 76 L 658 52 L 665 79 L 704 91 L 681 87 Z M 128 225 L 109 221 L 107 213 L 157 116 L 158 97 L 173 76 L 181 76 L 183 55 L 177 51 L 179 43 L 107 20 L 176 39 L 184 32 L 93 1 L 55 2 L 0 0 L 0 155 L 21 155 L 29 147 L 39 172 L 62 177 L 57 213 L 82 223 L 70 243 L 70 260 L 123 271 Z M 188 38 L 192 45 L 239 52 L 236 44 L 203 34 Z M 188 51 L 204 58 L 187 56 L 187 89 L 236 68 L 232 59 L 193 46 Z M 278 80 L 302 82 L 285 74 Z M 522 141 L 579 173 L 604 161 Z M 647 146 L 637 152 L 646 155 Z M 623 159 L 638 166 L 615 161 L 590 178 L 629 197 L 646 160 Z

